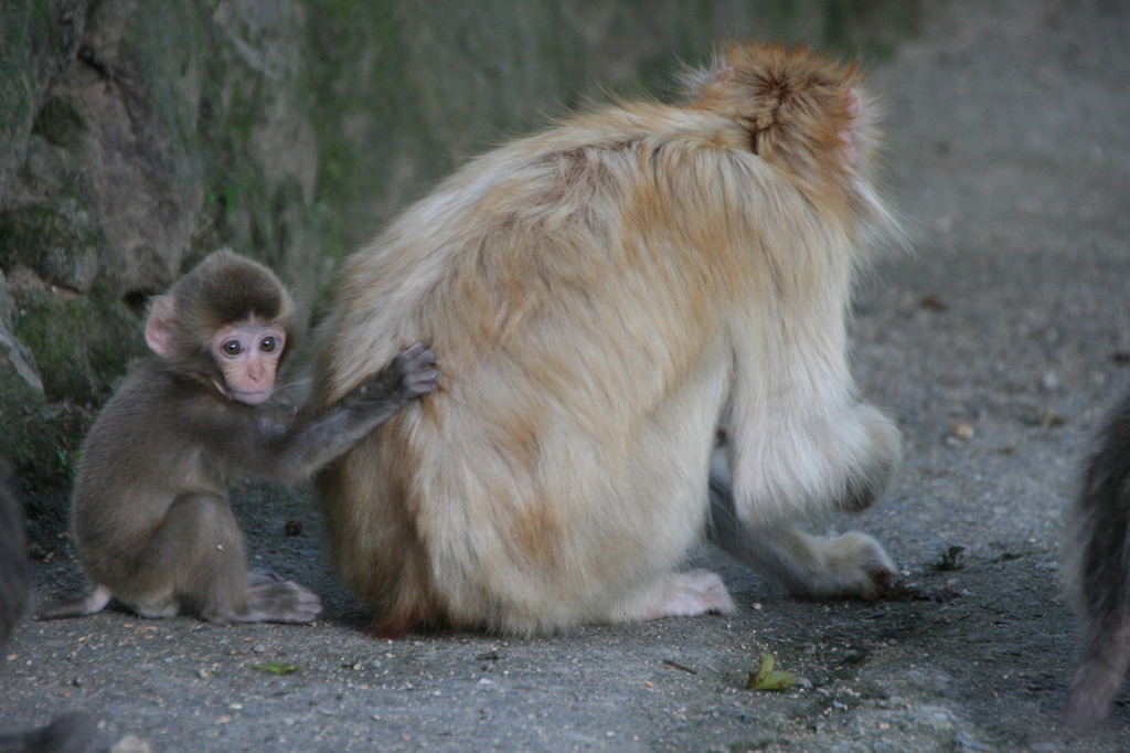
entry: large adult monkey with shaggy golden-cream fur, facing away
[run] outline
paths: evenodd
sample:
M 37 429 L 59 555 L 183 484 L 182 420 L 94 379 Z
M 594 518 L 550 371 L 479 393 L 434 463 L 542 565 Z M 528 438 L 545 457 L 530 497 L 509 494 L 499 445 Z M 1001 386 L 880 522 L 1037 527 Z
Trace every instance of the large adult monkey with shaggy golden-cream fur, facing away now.
M 895 232 L 867 96 L 853 67 L 780 46 L 688 83 L 683 106 L 608 107 L 471 162 L 345 267 L 322 399 L 402 343 L 444 363 L 438 392 L 320 477 L 379 632 L 727 612 L 715 575 L 673 572 L 707 486 L 719 542 L 794 592 L 890 578 L 870 537 L 792 527 L 868 507 L 901 452 L 845 355 L 853 274 Z

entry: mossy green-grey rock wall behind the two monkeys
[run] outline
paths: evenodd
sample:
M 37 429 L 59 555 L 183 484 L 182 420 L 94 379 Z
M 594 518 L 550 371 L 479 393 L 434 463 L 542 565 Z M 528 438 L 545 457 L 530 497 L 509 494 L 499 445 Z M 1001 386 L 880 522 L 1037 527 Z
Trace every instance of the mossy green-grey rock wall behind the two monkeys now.
M 889 0 L 5 0 L 0 436 L 64 488 L 140 314 L 208 252 L 310 313 L 342 254 L 469 156 L 728 38 L 881 50 Z

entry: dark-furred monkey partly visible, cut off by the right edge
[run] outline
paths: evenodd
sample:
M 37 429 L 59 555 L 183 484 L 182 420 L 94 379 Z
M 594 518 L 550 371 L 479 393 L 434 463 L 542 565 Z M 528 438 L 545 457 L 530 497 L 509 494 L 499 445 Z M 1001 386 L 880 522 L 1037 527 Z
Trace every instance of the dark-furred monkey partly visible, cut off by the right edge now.
M 1099 439 L 1069 539 L 1086 640 L 1064 709 L 1076 730 L 1106 716 L 1130 665 L 1130 395 Z

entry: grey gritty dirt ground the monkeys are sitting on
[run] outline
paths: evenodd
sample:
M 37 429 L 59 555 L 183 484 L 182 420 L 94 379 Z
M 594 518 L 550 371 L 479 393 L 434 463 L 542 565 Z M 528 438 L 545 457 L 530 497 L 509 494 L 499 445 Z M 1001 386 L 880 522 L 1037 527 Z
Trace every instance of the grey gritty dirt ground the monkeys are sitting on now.
M 929 5 L 872 76 L 914 251 L 862 285 L 854 331 L 863 390 L 907 438 L 855 525 L 932 599 L 799 601 L 705 552 L 733 617 L 374 640 L 308 495 L 258 514 L 269 490 L 252 487 L 253 556 L 323 591 L 324 620 L 25 623 L 0 661 L 0 728 L 85 709 L 103 748 L 134 734 L 155 751 L 1130 750 L 1127 689 L 1094 736 L 1059 729 L 1077 633 L 1057 551 L 1130 382 L 1130 3 Z M 287 537 L 290 519 L 305 533 Z M 950 546 L 963 566 L 939 570 Z M 38 573 L 40 597 L 77 585 L 69 562 Z M 793 690 L 744 690 L 762 651 Z M 271 661 L 297 670 L 254 666 Z

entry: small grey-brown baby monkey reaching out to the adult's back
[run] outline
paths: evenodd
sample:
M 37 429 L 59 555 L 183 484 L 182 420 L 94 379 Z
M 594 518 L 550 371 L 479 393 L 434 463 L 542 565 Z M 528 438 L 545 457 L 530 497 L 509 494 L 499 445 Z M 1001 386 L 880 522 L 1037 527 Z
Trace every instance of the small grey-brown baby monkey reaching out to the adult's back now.
M 293 336 L 290 296 L 266 267 L 209 256 L 154 300 L 136 364 L 82 448 L 71 528 L 94 588 L 41 618 L 94 614 L 118 598 L 144 617 L 314 620 L 318 596 L 249 571 L 227 490 L 240 478 L 297 481 L 436 387 L 423 344 L 337 403 L 295 414 L 261 406 Z

